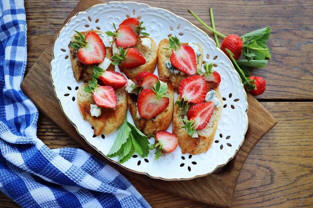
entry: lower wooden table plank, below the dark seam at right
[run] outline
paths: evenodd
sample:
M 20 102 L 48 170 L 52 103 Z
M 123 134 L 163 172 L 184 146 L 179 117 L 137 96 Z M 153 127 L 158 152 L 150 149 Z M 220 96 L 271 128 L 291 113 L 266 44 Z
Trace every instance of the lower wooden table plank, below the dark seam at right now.
M 262 102 L 277 118 L 270 130 L 249 154 L 234 192 L 232 208 L 313 207 L 313 103 Z M 50 119 L 39 114 L 38 137 L 49 148 L 81 147 Z M 152 208 L 212 208 L 143 185 L 131 183 Z M 0 193 L 1 208 L 18 208 Z

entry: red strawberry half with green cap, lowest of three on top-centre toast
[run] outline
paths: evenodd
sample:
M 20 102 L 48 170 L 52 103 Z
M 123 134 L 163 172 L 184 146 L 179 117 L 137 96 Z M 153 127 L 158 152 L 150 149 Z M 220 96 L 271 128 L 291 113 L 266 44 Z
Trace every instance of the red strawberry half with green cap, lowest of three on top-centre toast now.
M 115 53 L 111 57 L 113 65 L 121 64 L 123 67 L 131 69 L 145 64 L 143 55 L 135 48 L 123 50 L 123 48 L 119 47 L 119 53 Z

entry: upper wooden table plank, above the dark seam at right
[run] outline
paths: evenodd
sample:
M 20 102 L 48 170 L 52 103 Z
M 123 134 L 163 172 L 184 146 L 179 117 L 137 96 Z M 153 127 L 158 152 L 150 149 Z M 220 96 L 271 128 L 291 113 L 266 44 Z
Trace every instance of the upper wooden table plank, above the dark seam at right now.
M 25 0 L 27 18 L 27 71 L 47 46 L 79 0 Z M 168 9 L 204 29 L 186 10 L 190 8 L 209 24 L 213 7 L 216 29 L 239 34 L 270 25 L 268 41 L 272 59 L 254 75 L 266 80 L 260 99 L 313 100 L 312 0 L 137 0 Z M 212 35 L 211 35 L 212 37 Z M 220 39 L 221 41 L 221 39 Z M 305 87 L 304 87 L 305 86 Z

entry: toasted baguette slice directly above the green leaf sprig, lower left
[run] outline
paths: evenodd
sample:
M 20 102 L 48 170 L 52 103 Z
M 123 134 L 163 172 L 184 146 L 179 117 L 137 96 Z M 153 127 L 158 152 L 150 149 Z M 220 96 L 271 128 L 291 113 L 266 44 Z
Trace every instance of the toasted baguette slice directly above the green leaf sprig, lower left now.
M 124 121 L 127 112 L 127 98 L 125 87 L 115 90 L 117 106 L 115 108 L 101 108 L 101 115 L 93 117 L 90 114 L 90 104 L 94 104 L 91 93 L 84 91 L 83 83 L 78 89 L 77 103 L 84 120 L 88 120 L 94 127 L 95 135 L 109 134 L 116 130 Z

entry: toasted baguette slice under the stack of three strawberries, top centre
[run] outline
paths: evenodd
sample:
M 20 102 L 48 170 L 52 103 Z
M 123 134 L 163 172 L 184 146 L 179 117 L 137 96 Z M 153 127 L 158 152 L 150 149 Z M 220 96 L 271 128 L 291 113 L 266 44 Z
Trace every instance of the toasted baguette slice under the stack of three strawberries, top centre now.
M 151 40 L 150 49 L 146 49 L 145 47 L 142 46 L 141 39 L 140 39 L 141 37 L 149 38 Z M 140 53 L 143 55 L 145 59 L 145 64 L 132 68 L 132 69 L 125 68 L 121 64 L 118 65 L 119 70 L 123 72 L 128 77 L 128 79 L 131 79 L 131 80 L 133 80 L 137 76 L 137 74 L 139 74 L 142 71 L 148 71 L 148 72 L 153 73 L 156 67 L 156 62 L 157 62 L 156 60 L 157 45 L 151 37 L 146 37 L 146 36 L 138 37 L 137 42 L 133 47 L 139 50 Z

